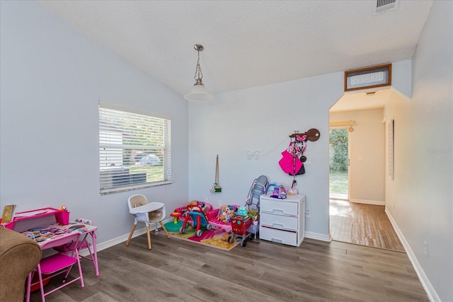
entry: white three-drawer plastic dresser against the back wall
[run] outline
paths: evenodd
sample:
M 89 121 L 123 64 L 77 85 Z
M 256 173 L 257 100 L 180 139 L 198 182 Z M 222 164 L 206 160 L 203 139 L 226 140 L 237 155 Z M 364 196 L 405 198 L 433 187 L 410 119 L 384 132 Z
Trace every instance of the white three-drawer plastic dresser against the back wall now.
M 260 239 L 299 246 L 305 237 L 305 195 L 260 196 Z

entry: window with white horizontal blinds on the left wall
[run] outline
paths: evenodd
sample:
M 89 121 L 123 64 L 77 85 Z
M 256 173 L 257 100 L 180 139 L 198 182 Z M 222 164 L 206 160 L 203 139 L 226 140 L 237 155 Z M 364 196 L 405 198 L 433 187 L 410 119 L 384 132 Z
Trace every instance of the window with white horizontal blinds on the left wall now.
M 171 117 L 99 102 L 101 194 L 171 182 Z

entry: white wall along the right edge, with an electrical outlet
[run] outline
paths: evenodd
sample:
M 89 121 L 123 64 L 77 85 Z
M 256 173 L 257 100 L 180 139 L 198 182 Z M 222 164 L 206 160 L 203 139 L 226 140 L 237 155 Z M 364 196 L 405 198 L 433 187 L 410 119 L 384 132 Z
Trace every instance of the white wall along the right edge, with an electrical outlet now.
M 452 12 L 452 1 L 434 1 L 413 57 L 413 97 L 396 99 L 385 112 L 395 120 L 386 211 L 432 301 L 453 301 Z

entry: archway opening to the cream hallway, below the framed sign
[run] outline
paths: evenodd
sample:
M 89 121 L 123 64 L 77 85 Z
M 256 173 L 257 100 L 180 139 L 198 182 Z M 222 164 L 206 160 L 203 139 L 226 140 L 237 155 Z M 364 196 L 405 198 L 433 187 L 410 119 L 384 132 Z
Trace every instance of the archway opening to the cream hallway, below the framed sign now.
M 333 240 L 403 251 L 385 213 L 383 119 L 391 91 L 377 91 L 372 95 L 364 92 L 344 95 L 329 111 L 329 122 L 336 126 L 333 128 L 348 129 L 349 122 L 353 129 L 348 132 L 348 156 L 342 156 L 348 158 L 348 195 L 330 199 L 329 227 Z

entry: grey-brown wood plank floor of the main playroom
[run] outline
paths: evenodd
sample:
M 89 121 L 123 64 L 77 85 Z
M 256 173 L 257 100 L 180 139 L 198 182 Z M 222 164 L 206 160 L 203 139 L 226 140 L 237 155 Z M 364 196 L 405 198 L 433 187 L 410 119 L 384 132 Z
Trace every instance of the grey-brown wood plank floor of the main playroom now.
M 75 282 L 46 300 L 429 301 L 403 252 L 307 238 L 299 248 L 258 239 L 225 252 L 161 234 L 151 238 L 152 250 L 142 235 L 129 247 L 98 252 L 99 277 L 83 260 L 86 287 Z M 32 301 L 40 301 L 39 291 Z

